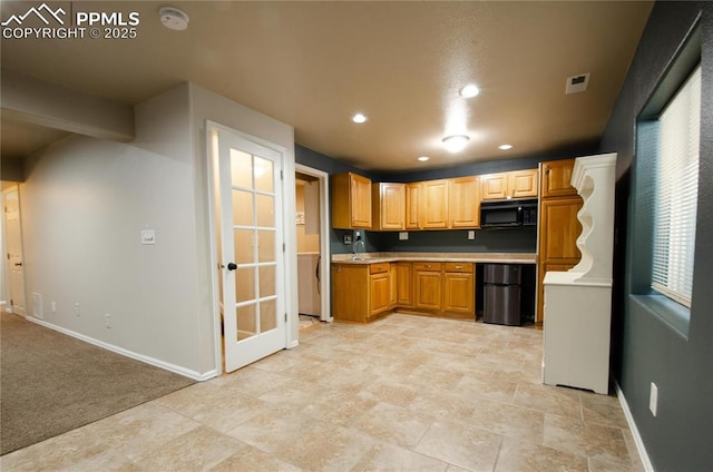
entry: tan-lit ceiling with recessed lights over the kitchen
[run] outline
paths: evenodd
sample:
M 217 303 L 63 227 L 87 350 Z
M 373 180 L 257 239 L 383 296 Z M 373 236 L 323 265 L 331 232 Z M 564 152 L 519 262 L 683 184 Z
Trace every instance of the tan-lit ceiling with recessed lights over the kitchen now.
M 38 3 L 2 1 L 2 20 Z M 131 105 L 192 81 L 292 125 L 296 142 L 328 156 L 416 170 L 596 142 L 653 2 L 51 4 L 137 11 L 137 38 L 3 39 L 3 69 Z M 191 17 L 187 30 L 160 24 L 166 4 Z M 588 90 L 565 95 L 566 78 L 585 72 Z M 460 98 L 467 82 L 481 94 Z M 365 124 L 350 121 L 358 111 Z M 448 134 L 470 136 L 467 148 L 447 153 Z M 62 136 L 3 119 L 2 157 Z M 514 148 L 498 150 L 505 142 Z

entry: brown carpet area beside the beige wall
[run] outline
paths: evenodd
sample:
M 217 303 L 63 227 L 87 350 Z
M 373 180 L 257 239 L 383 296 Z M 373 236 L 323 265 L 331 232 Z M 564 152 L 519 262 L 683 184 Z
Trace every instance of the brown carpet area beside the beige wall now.
M 194 383 L 2 313 L 0 455 Z

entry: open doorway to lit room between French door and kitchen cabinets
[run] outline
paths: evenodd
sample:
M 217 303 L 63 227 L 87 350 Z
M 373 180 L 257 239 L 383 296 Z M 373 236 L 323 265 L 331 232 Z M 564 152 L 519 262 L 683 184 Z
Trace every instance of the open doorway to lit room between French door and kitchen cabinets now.
M 329 174 L 295 165 L 297 306 L 300 327 L 332 322 Z

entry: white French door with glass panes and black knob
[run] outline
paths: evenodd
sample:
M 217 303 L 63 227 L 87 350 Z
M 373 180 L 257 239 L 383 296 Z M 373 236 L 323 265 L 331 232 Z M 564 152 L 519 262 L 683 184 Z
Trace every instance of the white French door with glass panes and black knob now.
M 282 154 L 218 132 L 225 370 L 286 347 Z

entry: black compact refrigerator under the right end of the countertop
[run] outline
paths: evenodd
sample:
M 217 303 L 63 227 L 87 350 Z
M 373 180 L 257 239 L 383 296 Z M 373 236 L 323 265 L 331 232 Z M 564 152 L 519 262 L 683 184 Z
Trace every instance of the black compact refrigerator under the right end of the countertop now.
M 509 326 L 521 324 L 521 268 L 519 264 L 485 264 L 482 273 L 484 322 Z

